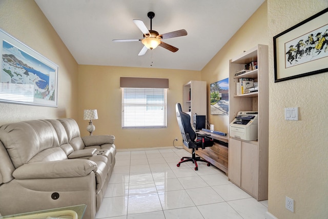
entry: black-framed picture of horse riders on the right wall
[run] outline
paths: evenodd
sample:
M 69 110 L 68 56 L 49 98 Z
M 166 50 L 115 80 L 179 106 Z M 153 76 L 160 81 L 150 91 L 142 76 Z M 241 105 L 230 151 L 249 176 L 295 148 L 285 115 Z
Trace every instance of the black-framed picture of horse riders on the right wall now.
M 328 71 L 328 8 L 273 37 L 275 82 Z

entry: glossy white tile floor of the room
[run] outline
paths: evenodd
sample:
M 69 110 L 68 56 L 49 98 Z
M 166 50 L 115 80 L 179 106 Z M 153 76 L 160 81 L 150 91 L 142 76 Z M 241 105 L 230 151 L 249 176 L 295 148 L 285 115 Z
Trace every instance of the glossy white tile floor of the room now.
M 176 164 L 183 149 L 118 150 L 96 218 L 265 218 L 268 202 L 257 202 L 214 166 Z

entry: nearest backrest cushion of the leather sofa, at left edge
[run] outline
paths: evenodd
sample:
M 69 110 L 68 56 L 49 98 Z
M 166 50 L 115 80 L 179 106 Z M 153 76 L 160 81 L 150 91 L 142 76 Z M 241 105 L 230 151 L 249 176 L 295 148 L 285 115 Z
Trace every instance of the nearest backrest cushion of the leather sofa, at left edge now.
M 15 168 L 26 164 L 45 149 L 59 147 L 55 129 L 45 120 L 2 125 L 0 139 Z

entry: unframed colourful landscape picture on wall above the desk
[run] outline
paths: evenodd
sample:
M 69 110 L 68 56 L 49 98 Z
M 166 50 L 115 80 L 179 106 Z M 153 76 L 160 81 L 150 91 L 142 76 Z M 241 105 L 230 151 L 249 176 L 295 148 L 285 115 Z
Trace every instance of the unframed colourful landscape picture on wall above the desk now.
M 229 77 L 210 84 L 211 115 L 229 115 Z

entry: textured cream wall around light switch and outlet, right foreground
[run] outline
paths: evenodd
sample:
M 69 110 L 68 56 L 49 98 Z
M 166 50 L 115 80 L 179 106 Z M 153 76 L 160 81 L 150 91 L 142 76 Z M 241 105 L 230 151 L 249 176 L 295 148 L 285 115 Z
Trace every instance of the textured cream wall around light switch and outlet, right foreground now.
M 326 0 L 268 0 L 269 212 L 279 219 L 328 217 L 328 73 L 274 83 L 272 39 L 326 7 Z M 285 107 L 299 107 L 299 121 L 285 121 Z

